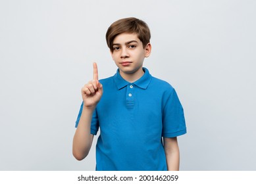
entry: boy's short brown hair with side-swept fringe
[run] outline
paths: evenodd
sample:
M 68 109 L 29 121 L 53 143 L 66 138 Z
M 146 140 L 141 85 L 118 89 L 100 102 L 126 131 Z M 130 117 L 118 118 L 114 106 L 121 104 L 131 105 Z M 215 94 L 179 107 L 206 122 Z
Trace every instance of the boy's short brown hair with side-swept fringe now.
M 149 27 L 143 20 L 134 17 L 122 18 L 111 24 L 106 33 L 107 46 L 111 52 L 113 52 L 113 41 L 116 35 L 123 33 L 137 34 L 144 48 L 151 37 Z

